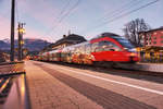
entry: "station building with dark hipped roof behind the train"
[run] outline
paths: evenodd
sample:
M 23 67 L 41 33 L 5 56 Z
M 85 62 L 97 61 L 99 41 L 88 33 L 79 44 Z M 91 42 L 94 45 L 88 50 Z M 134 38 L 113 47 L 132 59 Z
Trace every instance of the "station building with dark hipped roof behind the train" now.
M 55 41 L 54 44 L 49 45 L 45 50 L 60 49 L 66 46 L 76 45 L 79 43 L 87 41 L 83 36 L 70 34 L 68 36 L 63 35 L 63 38 Z

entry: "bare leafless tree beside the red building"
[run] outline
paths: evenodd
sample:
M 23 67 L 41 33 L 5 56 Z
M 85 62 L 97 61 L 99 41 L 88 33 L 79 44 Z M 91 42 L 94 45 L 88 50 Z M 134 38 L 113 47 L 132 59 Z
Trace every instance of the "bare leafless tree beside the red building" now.
M 142 41 L 139 33 L 149 29 L 151 29 L 151 27 L 143 19 L 136 19 L 135 21 L 127 23 L 125 28 L 123 28 L 123 32 L 125 33 L 125 37 L 128 38 L 133 45 L 140 47 L 142 46 Z

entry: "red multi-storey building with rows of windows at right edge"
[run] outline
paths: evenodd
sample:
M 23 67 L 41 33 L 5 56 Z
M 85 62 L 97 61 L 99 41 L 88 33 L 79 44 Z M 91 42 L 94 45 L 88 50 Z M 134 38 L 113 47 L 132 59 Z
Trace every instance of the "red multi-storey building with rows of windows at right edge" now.
M 163 27 L 139 33 L 143 46 L 163 47 Z

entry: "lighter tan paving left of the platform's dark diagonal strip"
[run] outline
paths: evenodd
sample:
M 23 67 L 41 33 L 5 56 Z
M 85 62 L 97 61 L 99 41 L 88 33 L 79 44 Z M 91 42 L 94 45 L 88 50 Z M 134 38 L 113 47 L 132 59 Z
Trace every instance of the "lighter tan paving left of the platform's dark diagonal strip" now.
M 32 109 L 103 109 L 32 61 L 25 62 L 25 70 Z

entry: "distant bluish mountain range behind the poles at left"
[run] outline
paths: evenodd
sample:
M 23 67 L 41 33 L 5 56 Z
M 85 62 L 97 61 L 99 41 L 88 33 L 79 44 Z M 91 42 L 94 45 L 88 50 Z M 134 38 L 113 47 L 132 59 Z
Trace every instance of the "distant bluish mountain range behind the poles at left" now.
M 39 51 L 48 45 L 50 45 L 50 43 L 42 39 L 24 39 L 23 48 L 27 48 L 29 51 Z M 17 48 L 17 40 L 15 40 L 15 48 Z M 0 40 L 0 49 L 3 51 L 10 50 L 9 39 Z

